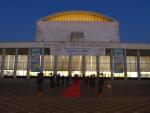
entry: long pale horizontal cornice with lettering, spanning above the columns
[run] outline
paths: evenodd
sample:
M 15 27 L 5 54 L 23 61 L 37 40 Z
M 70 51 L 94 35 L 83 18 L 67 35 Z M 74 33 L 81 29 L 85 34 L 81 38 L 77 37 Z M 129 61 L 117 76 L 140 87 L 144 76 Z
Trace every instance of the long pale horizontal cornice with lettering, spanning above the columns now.
M 150 44 L 105 42 L 0 42 L 0 48 L 123 48 L 150 49 Z

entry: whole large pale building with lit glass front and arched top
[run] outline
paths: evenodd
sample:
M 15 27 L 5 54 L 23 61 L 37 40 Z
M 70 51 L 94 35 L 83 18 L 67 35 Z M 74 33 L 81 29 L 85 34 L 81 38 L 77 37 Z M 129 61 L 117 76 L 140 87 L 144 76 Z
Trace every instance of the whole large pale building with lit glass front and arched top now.
M 119 22 L 100 13 L 67 11 L 37 21 L 35 42 L 0 42 L 0 77 L 104 73 L 150 78 L 150 45 L 120 43 Z

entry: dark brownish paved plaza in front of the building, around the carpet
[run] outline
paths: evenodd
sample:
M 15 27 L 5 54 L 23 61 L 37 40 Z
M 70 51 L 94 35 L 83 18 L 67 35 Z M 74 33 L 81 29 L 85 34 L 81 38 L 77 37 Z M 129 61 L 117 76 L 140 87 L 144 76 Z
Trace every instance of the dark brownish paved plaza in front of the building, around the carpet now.
M 48 79 L 42 96 L 35 79 L 1 79 L 0 113 L 150 113 L 150 84 L 108 83 L 112 87 L 103 87 L 103 97 L 81 83 L 81 96 L 68 98 L 62 94 L 69 85 L 51 88 Z

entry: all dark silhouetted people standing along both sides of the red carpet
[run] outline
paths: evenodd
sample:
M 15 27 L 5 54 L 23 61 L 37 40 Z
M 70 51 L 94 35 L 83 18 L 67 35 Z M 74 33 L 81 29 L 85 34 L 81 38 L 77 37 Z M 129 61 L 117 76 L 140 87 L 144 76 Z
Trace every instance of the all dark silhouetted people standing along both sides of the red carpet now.
M 42 84 L 43 84 L 43 77 L 44 74 L 42 72 L 38 73 L 37 75 L 37 86 L 38 86 L 38 94 L 42 95 Z M 103 85 L 104 85 L 104 74 L 101 73 L 100 75 L 90 75 L 90 76 L 82 76 L 79 77 L 77 74 L 74 78 L 79 78 L 82 81 L 82 84 L 87 86 L 88 88 L 96 89 L 97 96 L 102 96 Z M 50 73 L 50 85 L 51 88 L 55 88 L 59 85 L 69 85 L 71 83 L 72 77 L 71 76 L 60 76 L 60 74 L 53 75 Z

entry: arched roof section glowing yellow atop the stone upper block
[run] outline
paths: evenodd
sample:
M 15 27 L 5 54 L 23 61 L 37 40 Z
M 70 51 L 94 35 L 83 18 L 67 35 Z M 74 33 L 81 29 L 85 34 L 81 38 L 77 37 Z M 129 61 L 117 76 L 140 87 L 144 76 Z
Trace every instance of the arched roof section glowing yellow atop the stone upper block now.
M 46 16 L 42 21 L 63 22 L 63 21 L 77 21 L 77 22 L 113 22 L 116 21 L 103 14 L 91 11 L 65 11 Z

